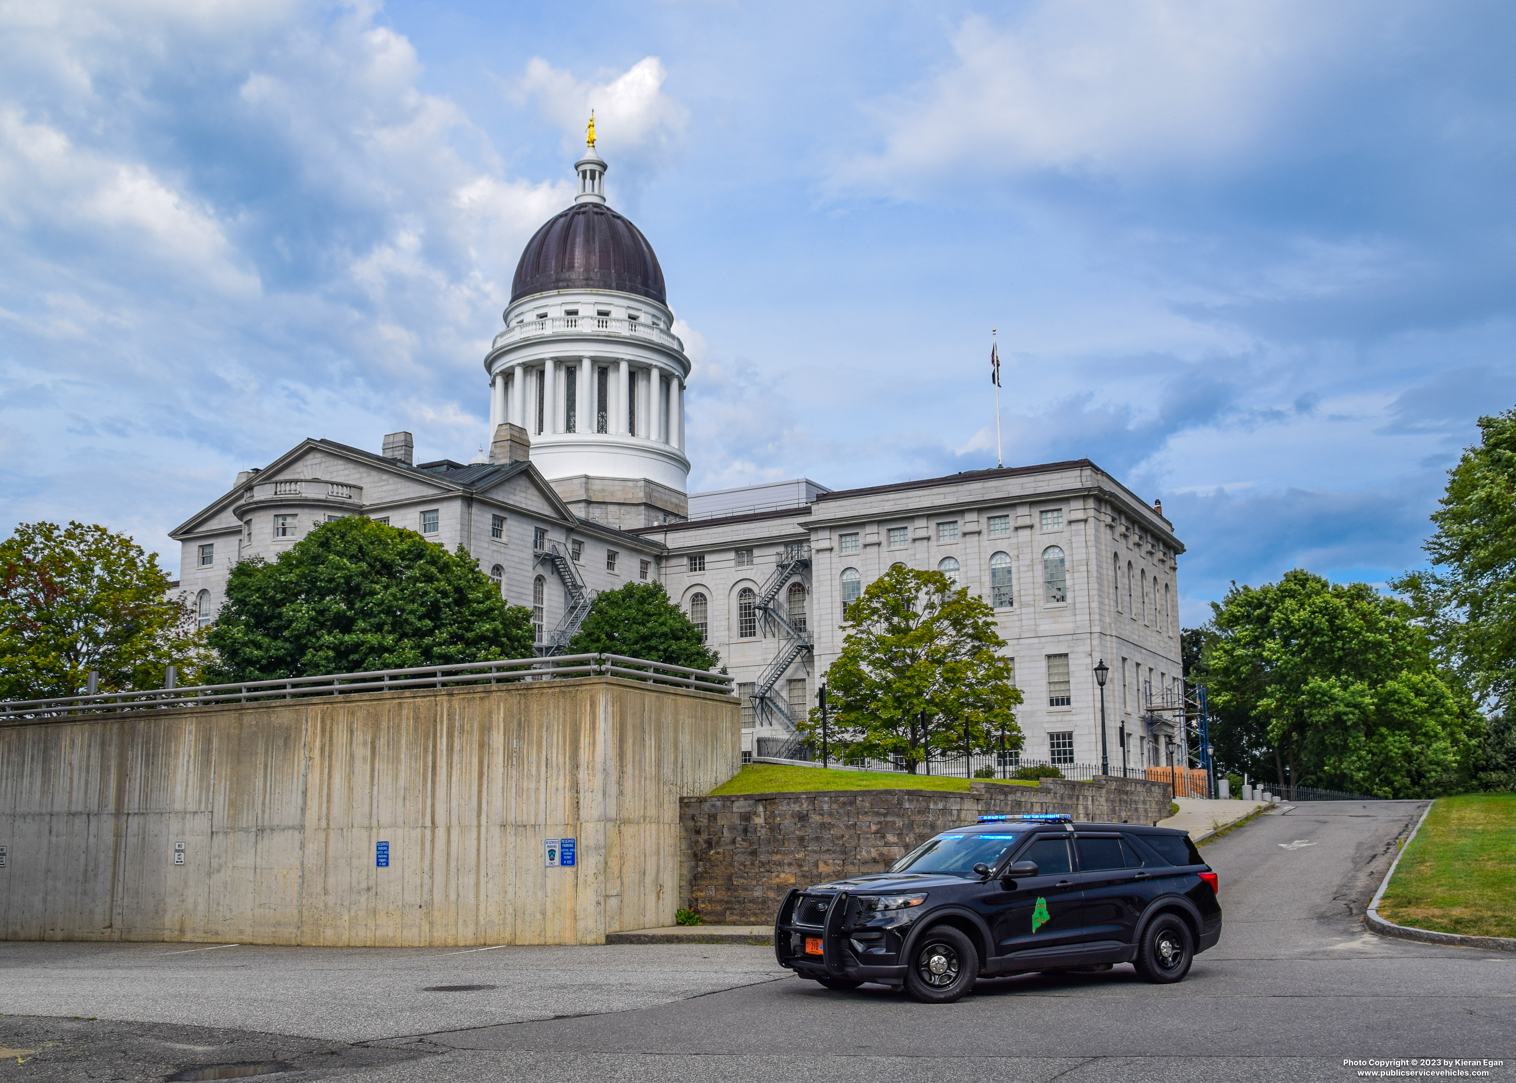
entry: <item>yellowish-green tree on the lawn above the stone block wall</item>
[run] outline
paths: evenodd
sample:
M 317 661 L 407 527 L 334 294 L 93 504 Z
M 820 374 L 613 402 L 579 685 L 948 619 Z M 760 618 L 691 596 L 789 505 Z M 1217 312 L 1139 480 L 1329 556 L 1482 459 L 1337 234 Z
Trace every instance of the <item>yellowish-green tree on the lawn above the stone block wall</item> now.
M 913 775 L 938 752 L 1022 746 L 1011 660 L 994 610 L 941 572 L 891 567 L 852 602 L 826 670 L 832 739 L 846 757 L 901 757 Z M 820 713 L 802 727 L 820 730 Z

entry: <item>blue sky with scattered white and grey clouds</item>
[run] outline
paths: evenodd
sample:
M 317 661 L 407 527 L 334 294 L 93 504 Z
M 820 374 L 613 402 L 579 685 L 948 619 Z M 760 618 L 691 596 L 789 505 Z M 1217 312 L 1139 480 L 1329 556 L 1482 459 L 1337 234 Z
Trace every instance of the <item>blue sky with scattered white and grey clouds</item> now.
M 691 491 L 1088 457 L 1186 623 L 1384 582 L 1516 407 L 1516 8 L 0 0 L 0 535 L 167 532 L 305 437 L 485 441 L 596 109 Z

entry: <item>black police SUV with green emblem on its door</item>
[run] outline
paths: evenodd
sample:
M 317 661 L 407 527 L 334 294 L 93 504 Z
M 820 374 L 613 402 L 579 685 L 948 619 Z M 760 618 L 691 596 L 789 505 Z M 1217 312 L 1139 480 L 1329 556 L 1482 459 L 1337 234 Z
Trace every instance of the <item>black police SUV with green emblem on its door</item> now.
M 955 1001 L 976 978 L 1134 963 L 1179 981 L 1216 945 L 1216 874 L 1189 834 L 1069 816 L 981 816 L 888 872 L 791 890 L 781 966 L 829 989 L 864 981 Z

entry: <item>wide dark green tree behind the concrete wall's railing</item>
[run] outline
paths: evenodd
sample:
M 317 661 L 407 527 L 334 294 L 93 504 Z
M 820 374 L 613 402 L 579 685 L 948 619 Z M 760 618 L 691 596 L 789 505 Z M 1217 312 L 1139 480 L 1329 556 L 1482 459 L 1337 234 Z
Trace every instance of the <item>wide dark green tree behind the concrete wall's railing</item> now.
M 273 563 L 238 563 L 211 628 L 218 680 L 405 669 L 532 654 L 532 614 L 462 546 L 344 516 Z

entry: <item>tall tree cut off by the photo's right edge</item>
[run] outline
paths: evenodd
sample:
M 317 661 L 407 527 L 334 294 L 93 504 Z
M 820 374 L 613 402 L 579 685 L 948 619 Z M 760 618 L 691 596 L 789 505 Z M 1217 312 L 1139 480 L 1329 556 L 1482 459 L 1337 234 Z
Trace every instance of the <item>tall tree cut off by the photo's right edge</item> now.
M 1448 472 L 1427 540 L 1431 570 L 1395 581 L 1481 702 L 1516 708 L 1516 410 L 1480 419 Z

